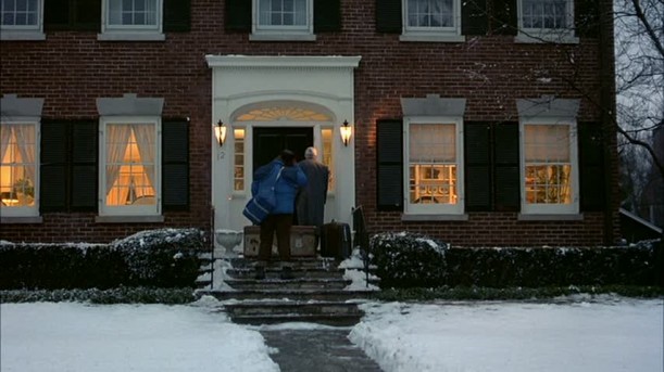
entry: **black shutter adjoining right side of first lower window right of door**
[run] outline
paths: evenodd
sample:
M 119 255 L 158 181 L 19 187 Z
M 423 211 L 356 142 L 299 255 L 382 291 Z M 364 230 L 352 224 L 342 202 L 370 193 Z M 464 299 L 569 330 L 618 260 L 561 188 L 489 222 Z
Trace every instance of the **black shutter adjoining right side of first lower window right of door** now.
M 465 208 L 491 210 L 491 132 L 488 123 L 464 125 Z

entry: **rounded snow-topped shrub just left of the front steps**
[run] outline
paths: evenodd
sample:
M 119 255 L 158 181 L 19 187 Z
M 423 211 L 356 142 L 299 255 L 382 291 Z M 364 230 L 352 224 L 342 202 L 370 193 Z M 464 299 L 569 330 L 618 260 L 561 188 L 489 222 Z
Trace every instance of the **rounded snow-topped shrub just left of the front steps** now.
M 195 283 L 204 241 L 199 229 L 161 229 L 116 240 L 110 247 L 125 261 L 130 285 L 177 287 Z

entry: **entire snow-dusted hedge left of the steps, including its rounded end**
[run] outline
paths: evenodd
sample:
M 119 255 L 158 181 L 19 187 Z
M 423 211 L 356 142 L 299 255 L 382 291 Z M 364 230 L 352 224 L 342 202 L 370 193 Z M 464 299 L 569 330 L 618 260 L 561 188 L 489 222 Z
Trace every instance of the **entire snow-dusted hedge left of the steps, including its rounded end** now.
M 111 244 L 0 243 L 0 290 L 195 287 L 199 229 L 148 230 Z

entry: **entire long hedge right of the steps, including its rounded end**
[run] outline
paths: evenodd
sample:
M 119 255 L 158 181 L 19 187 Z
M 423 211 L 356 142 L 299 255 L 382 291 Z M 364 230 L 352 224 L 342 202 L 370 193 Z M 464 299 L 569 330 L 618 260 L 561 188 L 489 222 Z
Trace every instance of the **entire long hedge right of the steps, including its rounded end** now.
M 662 285 L 660 241 L 613 247 L 452 247 L 400 232 L 371 238 L 383 288 Z

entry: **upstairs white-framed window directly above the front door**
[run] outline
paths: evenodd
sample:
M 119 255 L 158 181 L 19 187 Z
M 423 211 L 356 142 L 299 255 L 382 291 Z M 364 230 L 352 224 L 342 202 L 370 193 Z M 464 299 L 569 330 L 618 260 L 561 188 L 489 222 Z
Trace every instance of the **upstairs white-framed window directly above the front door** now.
M 315 40 L 313 0 L 253 0 L 252 40 Z

